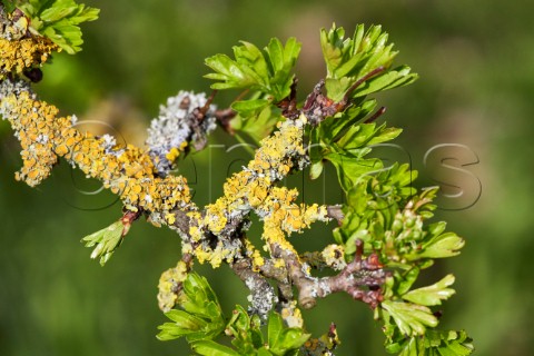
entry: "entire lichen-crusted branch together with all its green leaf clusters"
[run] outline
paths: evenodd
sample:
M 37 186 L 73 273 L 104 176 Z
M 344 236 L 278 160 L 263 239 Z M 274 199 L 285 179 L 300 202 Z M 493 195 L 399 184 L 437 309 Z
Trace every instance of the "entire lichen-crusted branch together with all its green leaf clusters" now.
M 62 11 L 67 3 L 70 12 Z M 226 55 L 208 58 L 214 72 L 206 77 L 217 81 L 212 89 L 245 89 L 231 108 L 217 109 L 216 91 L 208 98 L 179 91 L 152 120 L 147 146 L 136 147 L 118 144 L 110 135 L 80 131 L 76 116 L 60 116 L 30 87 L 29 81 L 40 80 L 40 68 L 55 51 L 80 50 L 78 24 L 95 20 L 98 10 L 73 0 L 9 4 L 9 10 L 0 6 L 0 115 L 22 148 L 16 179 L 34 187 L 65 159 L 116 194 L 123 205 L 121 218 L 83 238 L 95 247 L 91 257 L 100 257 L 102 265 L 142 216 L 179 234 L 181 259 L 158 285 L 159 307 L 175 324 L 161 326 L 158 337 L 186 336 L 199 353 L 218 349 L 237 355 L 212 340 L 225 333 L 244 355 L 295 355 L 298 349 L 304 355 L 334 355 L 339 344 L 336 327 L 322 338 L 309 338 L 299 308 L 346 293 L 383 320 L 389 349 L 404 353 L 417 343 L 423 350 L 441 345 L 442 334 L 425 334 L 426 327 L 438 323 L 428 307 L 454 294 L 447 288 L 454 277 L 419 289 L 412 286 L 419 270 L 432 266 L 434 258 L 457 255 L 464 241 L 444 233 L 444 222 L 424 224 L 432 217 L 435 189 L 418 194 L 411 187 L 413 172 L 407 166 L 386 169 L 380 160 L 366 157 L 373 145 L 400 131 L 373 123 L 385 109 L 373 113 L 376 102 L 365 97 L 417 78 L 407 67 L 390 68 L 396 52 L 386 46 L 387 33 L 379 27 L 364 31 L 359 26 L 348 39 L 343 28 L 322 30 L 327 76 L 303 105 L 296 101 L 293 67 L 300 43 L 294 38 L 285 44 L 273 39 L 264 51 L 243 42 L 234 48 L 235 60 Z M 51 19 L 44 23 L 42 17 Z M 67 36 L 56 36 L 55 29 L 65 27 L 70 29 Z M 233 120 L 239 120 L 244 132 L 259 137 L 259 147 L 226 180 L 224 195 L 199 207 L 187 179 L 172 170 L 180 158 L 207 145 L 217 123 L 228 134 L 238 131 Z M 243 125 L 247 120 L 263 125 L 263 130 L 248 125 L 247 131 Z M 281 181 L 308 166 L 310 177 L 317 178 L 327 161 L 336 168 L 346 204 L 297 204 L 299 191 Z M 247 236 L 251 215 L 263 224 L 263 246 Z M 290 243 L 291 234 L 333 219 L 338 222 L 336 244 L 300 254 Z M 250 291 L 248 313 L 239 306 L 225 320 L 214 291 L 194 273 L 195 260 L 214 268 L 228 265 Z M 330 268 L 335 274 L 318 278 L 313 268 Z M 267 342 L 261 339 L 261 323 L 275 334 Z M 471 353 L 464 334 L 446 343 L 454 344 L 452 349 L 463 347 L 464 355 Z

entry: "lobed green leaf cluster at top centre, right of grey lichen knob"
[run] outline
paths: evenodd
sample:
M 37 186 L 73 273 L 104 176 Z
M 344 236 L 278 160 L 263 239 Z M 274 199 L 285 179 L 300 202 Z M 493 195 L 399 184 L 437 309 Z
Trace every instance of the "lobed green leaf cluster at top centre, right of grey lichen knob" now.
M 295 38 L 289 38 L 283 44 L 273 38 L 264 50 L 246 41 L 233 49 L 234 59 L 220 53 L 207 58 L 205 62 L 214 72 L 205 77 L 217 81 L 211 85 L 212 89 L 248 91 L 246 99 L 231 103 L 231 109 L 237 112 L 231 129 L 245 132 L 259 142 L 281 120 L 276 103 L 291 93 L 295 79 L 293 70 L 300 52 L 300 43 Z

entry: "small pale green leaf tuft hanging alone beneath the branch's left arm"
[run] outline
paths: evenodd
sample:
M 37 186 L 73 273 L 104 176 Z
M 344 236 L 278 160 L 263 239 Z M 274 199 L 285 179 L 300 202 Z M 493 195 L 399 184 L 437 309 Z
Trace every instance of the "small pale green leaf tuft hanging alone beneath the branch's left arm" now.
M 86 243 L 86 247 L 97 246 L 92 250 L 91 258 L 100 257 L 100 265 L 103 266 L 122 243 L 123 231 L 125 226 L 121 220 L 118 220 L 107 228 L 83 237 L 81 241 Z

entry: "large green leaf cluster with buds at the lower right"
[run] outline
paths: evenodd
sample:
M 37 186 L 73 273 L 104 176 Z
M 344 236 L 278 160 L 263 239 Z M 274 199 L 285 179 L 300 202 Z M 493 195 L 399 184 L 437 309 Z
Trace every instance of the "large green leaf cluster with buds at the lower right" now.
M 347 259 L 356 251 L 356 240 L 362 240 L 365 253 L 377 254 L 384 268 L 390 273 L 383 286 L 384 301 L 375 310 L 375 317 L 384 323 L 386 348 L 392 353 L 405 346 L 412 349 L 414 345 L 417 349 L 435 348 L 435 343 L 423 343 L 421 337 L 426 337 L 438 325 L 431 307 L 454 295 L 455 290 L 449 288 L 454 276 L 447 275 L 433 285 L 416 289 L 413 286 L 419 273 L 431 267 L 435 258 L 456 256 L 464 246 L 461 237 L 445 231 L 445 222 L 426 224 L 433 217 L 435 206 L 432 201 L 437 188 L 416 194 L 412 187 L 414 178 L 415 172 L 407 165 L 394 165 L 362 177 L 347 192 L 345 218 L 334 230 L 334 238 L 345 247 Z M 436 355 L 448 355 L 446 349 L 449 346 L 445 344 L 456 345 L 454 340 L 443 340 L 436 348 L 441 354 Z

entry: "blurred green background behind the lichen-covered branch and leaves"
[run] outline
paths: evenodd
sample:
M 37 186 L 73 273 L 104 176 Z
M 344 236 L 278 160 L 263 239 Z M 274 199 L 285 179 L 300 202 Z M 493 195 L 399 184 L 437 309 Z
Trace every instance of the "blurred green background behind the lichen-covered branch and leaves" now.
M 421 75 L 415 85 L 380 96 L 380 103 L 388 107 L 385 119 L 405 128 L 397 144 L 421 170 L 417 184 L 436 184 L 436 172 L 423 165 L 425 152 L 435 145 L 465 145 L 479 159 L 464 167 L 471 178 L 464 174 L 447 179 L 476 190 L 478 186 L 469 186 L 468 180 L 476 182 L 473 177 L 477 177 L 481 198 L 461 209 L 468 205 L 461 197 L 453 201 L 455 210 L 438 214 L 467 241 L 459 257 L 438 264 L 427 276 L 428 280 L 448 271 L 457 276 L 457 295 L 445 304 L 442 323 L 467 329 L 477 355 L 534 354 L 534 284 L 528 271 L 534 249 L 530 139 L 534 2 L 87 3 L 102 11 L 97 22 L 83 26 L 83 51 L 56 56 L 37 90 L 62 112 L 97 121 L 88 129 L 109 131 L 109 123 L 115 130 L 109 132 L 118 131 L 137 144 L 142 144 L 145 127 L 168 96 L 179 89 L 207 90 L 209 83 L 201 79 L 207 72 L 204 58 L 229 53 L 238 40 L 264 46 L 270 37 L 295 36 L 303 41 L 298 75 L 304 96 L 324 76 L 319 28 L 335 21 L 352 33 L 358 22 L 382 23 L 400 50 L 397 63 L 407 63 Z M 231 96 L 218 99 L 226 105 Z M 225 151 L 231 142 L 215 135 L 212 144 L 226 146 L 196 155 L 181 168 L 199 204 L 218 197 L 227 174 L 246 161 L 244 151 Z M 157 325 L 165 322 L 157 308 L 156 286 L 160 273 L 179 258 L 177 235 L 140 221 L 101 268 L 79 240 L 117 219 L 120 204 L 105 191 L 87 194 L 98 191 L 98 182 L 86 180 L 65 162 L 37 189 L 16 182 L 18 152 L 7 122 L 0 122 L 0 355 L 190 355 L 184 340 L 161 343 L 155 337 Z M 406 154 L 393 156 L 407 159 Z M 472 162 L 467 158 L 448 162 Z M 329 182 L 310 186 L 305 199 L 335 202 L 338 190 L 324 196 L 316 189 L 333 186 L 332 172 L 327 178 Z M 473 197 L 473 191 L 466 194 Z M 319 227 L 294 240 L 301 248 L 325 246 L 329 228 Z M 226 310 L 246 303 L 245 288 L 227 268 L 200 270 Z M 385 355 L 372 313 L 346 296 L 322 300 L 306 317 L 316 335 L 330 322 L 338 325 L 343 340 L 338 355 Z

